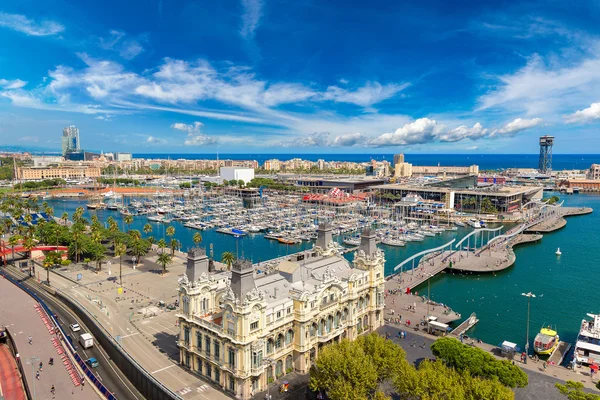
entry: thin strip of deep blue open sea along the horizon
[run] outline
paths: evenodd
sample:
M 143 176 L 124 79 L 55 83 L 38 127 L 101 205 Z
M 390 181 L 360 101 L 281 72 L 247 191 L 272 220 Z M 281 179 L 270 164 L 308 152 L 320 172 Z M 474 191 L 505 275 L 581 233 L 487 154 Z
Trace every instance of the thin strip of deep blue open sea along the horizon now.
M 217 153 L 210 154 L 133 154 L 134 158 L 147 159 L 188 159 L 188 160 L 214 160 Z M 351 161 L 368 162 L 371 160 L 392 162 L 393 154 L 218 154 L 221 160 L 256 160 L 263 164 L 273 158 L 291 160 L 317 161 Z M 480 170 L 503 170 L 506 168 L 537 168 L 539 154 L 405 154 L 404 160 L 413 165 L 442 165 L 442 166 L 468 166 L 478 165 Z M 552 156 L 552 169 L 588 169 L 591 164 L 599 163 L 599 154 L 554 154 Z

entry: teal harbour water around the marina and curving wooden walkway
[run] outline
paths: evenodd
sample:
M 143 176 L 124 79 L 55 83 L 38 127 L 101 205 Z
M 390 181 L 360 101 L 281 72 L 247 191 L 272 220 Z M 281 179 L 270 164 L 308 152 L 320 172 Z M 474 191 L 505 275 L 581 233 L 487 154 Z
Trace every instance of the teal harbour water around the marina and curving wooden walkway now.
M 475 312 L 479 323 L 469 331 L 469 335 L 490 344 L 504 340 L 515 342 L 521 348 L 526 340 L 527 298 L 522 293 L 532 292 L 531 299 L 531 339 L 542 326 L 556 327 L 562 340 L 573 343 L 581 320 L 587 313 L 600 313 L 598 289 L 600 288 L 600 195 L 546 193 L 557 195 L 565 206 L 588 206 L 595 211 L 585 216 L 569 217 L 565 228 L 545 234 L 538 243 L 525 244 L 515 248 L 515 264 L 495 274 L 450 274 L 442 273 L 431 280 L 431 298 L 444 303 L 462 314 L 463 319 Z M 48 200 L 54 207 L 55 215 L 72 213 L 78 206 L 85 208 L 83 200 Z M 87 218 L 95 213 L 100 221 L 112 216 L 122 227 L 123 218 L 116 211 L 86 210 Z M 148 221 L 137 217 L 132 229 L 142 230 Z M 165 238 L 167 225 L 151 223 L 155 238 Z M 193 246 L 195 232 L 173 221 L 175 237 L 181 241 L 182 250 Z M 505 229 L 509 229 L 506 226 Z M 420 251 L 445 244 L 453 238 L 460 239 L 470 232 L 470 228 L 459 228 L 456 232 L 445 232 L 436 237 L 427 237 L 423 242 L 410 242 L 405 247 L 381 245 L 386 255 L 386 275 L 394 273 L 394 267 Z M 201 232 L 205 246 L 217 260 L 225 251 L 253 262 L 261 262 L 284 256 L 312 246 L 310 243 L 284 245 L 263 238 L 261 234 L 248 235 L 236 239 L 207 230 Z M 336 238 L 340 241 L 341 238 Z M 556 256 L 560 247 L 561 256 Z M 348 260 L 352 254 L 347 254 Z M 427 285 L 415 290 L 425 293 Z

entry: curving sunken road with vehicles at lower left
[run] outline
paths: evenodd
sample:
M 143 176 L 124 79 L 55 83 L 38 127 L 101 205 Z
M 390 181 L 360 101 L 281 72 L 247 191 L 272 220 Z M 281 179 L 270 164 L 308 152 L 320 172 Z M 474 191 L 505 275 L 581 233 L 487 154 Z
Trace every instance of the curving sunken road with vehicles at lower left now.
M 17 279 L 28 289 L 38 295 L 46 305 L 55 313 L 63 330 L 72 337 L 75 348 L 84 359 L 94 357 L 100 363 L 100 366 L 94 369 L 96 376 L 102 383 L 113 392 L 118 399 L 123 400 L 144 400 L 137 389 L 129 382 L 129 380 L 121 373 L 118 367 L 112 362 L 106 352 L 94 343 L 94 346 L 89 349 L 82 349 L 78 344 L 79 334 L 89 332 L 89 329 L 82 323 L 79 318 L 66 305 L 58 301 L 54 296 L 46 292 L 40 283 L 34 278 L 30 278 L 28 274 L 18 270 L 15 267 L 6 267 L 4 271 L 12 278 Z M 81 331 L 71 332 L 70 324 L 77 322 L 81 326 Z

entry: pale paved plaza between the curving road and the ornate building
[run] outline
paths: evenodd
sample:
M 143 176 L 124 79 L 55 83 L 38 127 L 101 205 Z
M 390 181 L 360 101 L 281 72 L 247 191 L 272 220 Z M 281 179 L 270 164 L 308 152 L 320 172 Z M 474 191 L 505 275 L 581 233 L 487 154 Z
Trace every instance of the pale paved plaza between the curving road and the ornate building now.
M 160 301 L 168 305 L 177 298 L 177 279 L 185 272 L 185 256 L 176 252 L 165 275 L 161 275 L 162 267 L 156 263 L 156 253 L 144 257 L 135 269 L 130 261 L 123 260 L 122 293 L 118 291 L 119 259 L 112 257 L 107 258 L 98 273 L 85 264 L 52 270 L 50 282 L 85 308 L 118 345 L 177 395 L 188 400 L 231 399 L 217 390 L 214 382 L 179 365 L 177 310 L 159 306 Z

